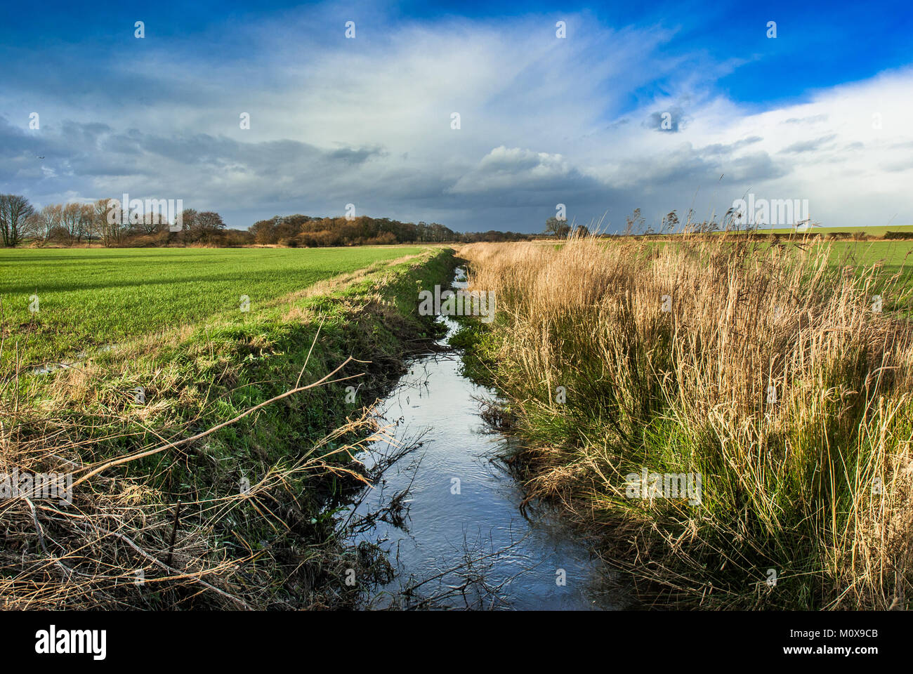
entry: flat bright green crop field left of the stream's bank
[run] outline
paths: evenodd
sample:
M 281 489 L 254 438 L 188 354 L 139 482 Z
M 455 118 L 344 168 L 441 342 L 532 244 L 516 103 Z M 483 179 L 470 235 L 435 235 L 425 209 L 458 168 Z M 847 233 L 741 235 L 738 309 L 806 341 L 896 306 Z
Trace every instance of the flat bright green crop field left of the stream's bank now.
M 93 347 L 270 300 L 420 247 L 0 250 L 3 359 L 56 362 Z M 37 296 L 37 312 L 34 297 Z M 28 335 L 26 343 L 26 334 Z

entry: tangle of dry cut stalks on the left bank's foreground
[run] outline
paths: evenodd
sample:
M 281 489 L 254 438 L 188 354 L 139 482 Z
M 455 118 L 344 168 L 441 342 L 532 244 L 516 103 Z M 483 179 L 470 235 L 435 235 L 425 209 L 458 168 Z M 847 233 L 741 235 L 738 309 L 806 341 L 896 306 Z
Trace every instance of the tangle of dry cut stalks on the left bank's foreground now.
M 383 437 L 370 416 L 353 419 L 244 490 L 184 495 L 176 502 L 142 476 L 112 477 L 109 469 L 173 451 L 179 443 L 116 463 L 85 463 L 81 429 L 53 419 L 40 427 L 36 422 L 27 420 L 38 430 L 35 437 L 5 438 L 2 472 L 14 465 L 20 473 L 71 471 L 72 502 L 26 493 L 0 503 L 0 608 L 335 608 L 356 606 L 373 575 L 387 578 L 385 560 L 324 542 L 335 533 L 331 520 L 320 512 L 312 516 L 296 489 L 328 476 L 363 483 L 354 457 Z M 330 448 L 352 436 L 359 439 Z M 47 451 L 49 437 L 56 441 L 53 452 Z M 245 535 L 264 525 L 275 534 L 268 542 Z M 231 538 L 245 552 L 226 544 Z M 348 568 L 356 570 L 361 587 L 344 583 Z

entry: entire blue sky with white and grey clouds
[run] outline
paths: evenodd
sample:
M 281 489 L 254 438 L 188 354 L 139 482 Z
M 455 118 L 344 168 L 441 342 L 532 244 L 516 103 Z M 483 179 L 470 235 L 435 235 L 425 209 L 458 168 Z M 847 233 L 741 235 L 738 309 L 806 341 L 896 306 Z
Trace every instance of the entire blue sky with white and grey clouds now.
M 354 204 L 533 232 L 564 204 L 611 231 L 748 194 L 913 224 L 909 0 L 613 5 L 5 3 L 0 192 L 234 227 Z

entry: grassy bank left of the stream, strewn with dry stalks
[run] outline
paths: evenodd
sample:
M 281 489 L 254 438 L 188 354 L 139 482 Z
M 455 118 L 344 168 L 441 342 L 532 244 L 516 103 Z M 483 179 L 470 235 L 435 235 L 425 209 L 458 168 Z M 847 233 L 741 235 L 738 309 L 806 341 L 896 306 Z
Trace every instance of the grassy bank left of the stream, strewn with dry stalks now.
M 354 606 L 385 578 L 332 514 L 372 477 L 357 455 L 383 429 L 365 406 L 435 330 L 416 289 L 453 269 L 446 250 L 387 250 L 79 367 L 34 375 L 5 358 L 0 474 L 73 483 L 71 503 L 0 501 L 0 606 Z

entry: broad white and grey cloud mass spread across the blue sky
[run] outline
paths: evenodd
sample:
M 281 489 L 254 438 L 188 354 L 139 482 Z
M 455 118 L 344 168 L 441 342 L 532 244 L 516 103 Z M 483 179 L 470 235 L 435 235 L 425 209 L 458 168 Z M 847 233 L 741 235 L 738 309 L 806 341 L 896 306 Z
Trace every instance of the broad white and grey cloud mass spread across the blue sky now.
M 0 121 L 3 190 L 44 203 L 173 195 L 232 226 L 351 202 L 378 216 L 533 231 L 557 202 L 579 222 L 608 211 L 621 225 L 635 207 L 648 218 L 692 205 L 698 217 L 719 214 L 749 191 L 808 198 L 825 224 L 913 223 L 913 70 L 749 107 L 715 93 L 740 62 L 670 57 L 674 32 L 659 26 L 568 16 L 562 40 L 548 16 L 392 23 L 375 11 L 346 40 L 338 16 L 338 35 L 315 30 L 328 16 L 299 9 L 122 52 L 108 80 L 83 74 L 80 88 L 38 91 L 40 133 L 21 132 L 29 107 L 0 93 L 11 125 Z M 220 39 L 245 48 L 201 54 Z M 39 71 L 28 76 L 20 83 L 40 89 Z M 664 111 L 676 117 L 670 132 Z M 241 112 L 250 130 L 239 129 Z

